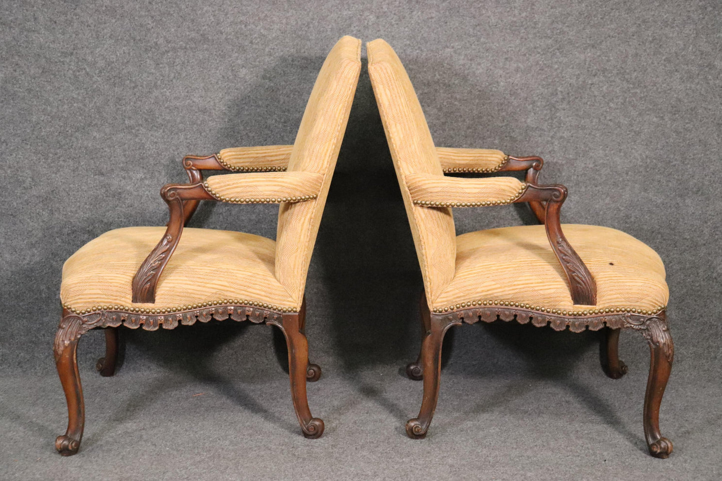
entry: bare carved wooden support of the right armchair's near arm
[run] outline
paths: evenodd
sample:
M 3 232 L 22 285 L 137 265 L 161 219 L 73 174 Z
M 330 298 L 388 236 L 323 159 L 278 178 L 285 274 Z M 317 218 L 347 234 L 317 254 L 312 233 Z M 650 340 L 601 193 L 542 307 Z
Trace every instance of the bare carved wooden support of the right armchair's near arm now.
M 589 269 L 574 248 L 569 245 L 562 232 L 560 210 L 566 198 L 567 188 L 565 186 L 537 186 L 530 183 L 514 202 L 546 202 L 544 226 L 547 229 L 547 238 L 567 277 L 572 299 L 578 305 L 594 306 L 596 304 L 596 283 L 591 277 Z

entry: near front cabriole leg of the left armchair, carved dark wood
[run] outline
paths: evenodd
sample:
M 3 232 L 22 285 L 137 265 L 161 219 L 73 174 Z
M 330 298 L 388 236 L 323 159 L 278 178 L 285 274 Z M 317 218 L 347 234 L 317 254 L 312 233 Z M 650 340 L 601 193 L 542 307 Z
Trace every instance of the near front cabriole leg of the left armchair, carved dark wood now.
M 55 440 L 55 449 L 62 456 L 72 456 L 78 452 L 85 424 L 85 404 L 83 389 L 78 372 L 78 340 L 100 320 L 100 314 L 89 319 L 63 311 L 63 318 L 55 335 L 53 354 L 58 376 L 65 391 L 68 403 L 68 428 L 63 436 Z

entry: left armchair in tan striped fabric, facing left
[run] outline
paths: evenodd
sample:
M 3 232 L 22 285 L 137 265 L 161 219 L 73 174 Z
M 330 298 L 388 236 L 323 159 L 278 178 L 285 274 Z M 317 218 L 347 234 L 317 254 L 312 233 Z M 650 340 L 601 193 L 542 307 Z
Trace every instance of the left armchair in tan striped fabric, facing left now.
M 301 429 L 307 438 L 321 436 L 323 421 L 311 416 L 306 399 L 307 379 L 317 380 L 321 370 L 308 363 L 303 293 L 358 82 L 360 48 L 360 40 L 344 37 L 331 50 L 293 145 L 186 157 L 183 166 L 191 183 L 161 189 L 170 209 L 167 228 L 110 230 L 66 261 L 63 316 L 54 345 L 69 413 L 68 429 L 56 440 L 60 454 L 77 453 L 83 433 L 78 340 L 91 329 L 105 328 L 105 358 L 97 368 L 112 376 L 121 325 L 154 331 L 230 318 L 277 326 L 287 340 L 291 394 Z M 203 181 L 201 170 L 240 173 Z M 277 240 L 184 229 L 201 200 L 280 204 Z

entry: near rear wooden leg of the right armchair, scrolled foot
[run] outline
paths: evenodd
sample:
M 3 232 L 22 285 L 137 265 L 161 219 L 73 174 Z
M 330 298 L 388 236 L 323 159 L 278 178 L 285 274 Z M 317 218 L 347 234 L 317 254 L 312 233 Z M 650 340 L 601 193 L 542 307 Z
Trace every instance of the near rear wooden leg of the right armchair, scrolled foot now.
M 454 324 L 440 316 L 430 317 L 430 332 L 424 337 L 421 345 L 421 360 L 424 376 L 424 397 L 421 402 L 419 415 L 406 422 L 406 434 L 412 439 L 426 437 L 436 410 L 439 398 L 439 384 L 441 378 L 441 344 L 444 334 Z

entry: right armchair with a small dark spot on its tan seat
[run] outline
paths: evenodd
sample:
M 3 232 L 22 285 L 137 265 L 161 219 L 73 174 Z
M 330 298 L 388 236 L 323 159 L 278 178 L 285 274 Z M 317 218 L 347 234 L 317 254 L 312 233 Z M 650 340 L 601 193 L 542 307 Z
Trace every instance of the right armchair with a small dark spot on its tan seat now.
M 557 331 L 567 326 L 573 332 L 605 329 L 603 367 L 612 378 L 627 372 L 617 341 L 620 329 L 632 329 L 651 348 L 644 401 L 646 441 L 653 456 L 669 456 L 672 443 L 661 436 L 658 415 L 674 345 L 667 328 L 669 291 L 659 256 L 619 230 L 560 225 L 567 189 L 536 183 L 538 157 L 515 160 L 499 151 L 434 147 L 399 57 L 380 39 L 367 44 L 367 53 L 425 287 L 421 352 L 406 370 L 410 378 L 423 378 L 424 396 L 418 417 L 406 423 L 406 433 L 410 438 L 426 436 L 438 399 L 441 342 L 451 326 L 503 319 L 549 325 Z M 527 170 L 526 181 L 444 175 L 492 170 Z M 513 202 L 529 202 L 544 225 L 456 236 L 452 207 Z

